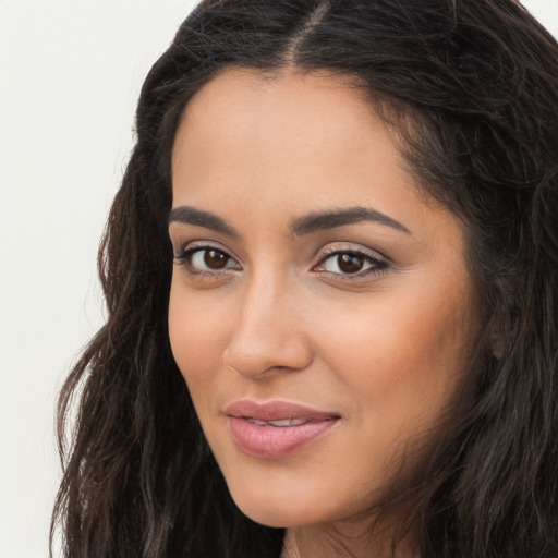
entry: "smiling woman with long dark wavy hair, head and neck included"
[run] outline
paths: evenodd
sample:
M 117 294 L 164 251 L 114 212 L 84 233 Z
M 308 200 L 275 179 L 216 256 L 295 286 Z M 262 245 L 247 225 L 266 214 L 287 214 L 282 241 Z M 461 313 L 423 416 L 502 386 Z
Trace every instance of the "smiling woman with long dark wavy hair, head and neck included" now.
M 557 62 L 510 0 L 199 4 L 61 396 L 68 556 L 558 556 Z

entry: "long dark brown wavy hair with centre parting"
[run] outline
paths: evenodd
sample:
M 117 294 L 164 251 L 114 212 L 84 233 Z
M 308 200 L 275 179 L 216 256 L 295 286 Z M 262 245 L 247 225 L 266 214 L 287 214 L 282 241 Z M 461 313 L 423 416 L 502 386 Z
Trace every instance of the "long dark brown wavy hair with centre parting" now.
M 558 557 L 558 45 L 512 0 L 205 0 L 192 12 L 143 86 L 99 251 L 107 323 L 60 395 L 51 539 L 60 529 L 71 558 L 280 554 L 283 531 L 229 496 L 167 326 L 174 134 L 231 65 L 353 78 L 420 187 L 465 223 L 480 347 L 493 351 L 480 350 L 466 409 L 393 498 L 422 558 Z

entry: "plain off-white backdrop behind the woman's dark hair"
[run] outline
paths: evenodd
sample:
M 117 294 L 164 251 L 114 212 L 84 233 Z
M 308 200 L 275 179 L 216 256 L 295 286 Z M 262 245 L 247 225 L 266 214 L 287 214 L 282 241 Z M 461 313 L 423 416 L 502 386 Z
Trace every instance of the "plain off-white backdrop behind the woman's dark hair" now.
M 48 556 L 56 393 L 102 323 L 142 81 L 194 3 L 0 0 L 0 558 Z M 558 0 L 523 3 L 558 36 Z

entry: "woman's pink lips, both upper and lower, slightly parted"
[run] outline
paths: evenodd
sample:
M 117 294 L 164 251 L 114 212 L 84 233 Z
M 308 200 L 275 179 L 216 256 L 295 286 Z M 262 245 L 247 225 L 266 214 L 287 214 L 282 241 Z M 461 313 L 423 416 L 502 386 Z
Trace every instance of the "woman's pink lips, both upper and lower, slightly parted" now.
M 259 458 L 288 456 L 322 437 L 340 420 L 337 413 L 286 401 L 236 401 L 225 413 L 240 449 Z M 292 424 L 271 424 L 278 421 Z

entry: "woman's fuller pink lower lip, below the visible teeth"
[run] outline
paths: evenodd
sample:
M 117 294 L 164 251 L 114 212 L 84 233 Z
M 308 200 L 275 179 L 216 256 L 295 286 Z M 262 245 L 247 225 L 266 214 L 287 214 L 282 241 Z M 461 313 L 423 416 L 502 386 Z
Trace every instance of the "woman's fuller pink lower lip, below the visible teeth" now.
M 259 426 L 246 418 L 230 416 L 232 437 L 240 449 L 258 458 L 280 458 L 324 435 L 338 418 L 307 422 L 299 426 Z

